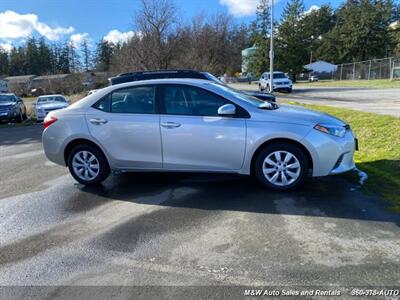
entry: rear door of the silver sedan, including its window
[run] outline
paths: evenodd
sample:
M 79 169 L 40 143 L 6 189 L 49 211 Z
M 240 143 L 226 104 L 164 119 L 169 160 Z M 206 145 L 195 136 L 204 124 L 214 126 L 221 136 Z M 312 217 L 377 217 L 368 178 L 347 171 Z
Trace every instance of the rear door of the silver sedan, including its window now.
M 162 168 L 155 86 L 113 91 L 86 113 L 91 135 L 119 168 Z

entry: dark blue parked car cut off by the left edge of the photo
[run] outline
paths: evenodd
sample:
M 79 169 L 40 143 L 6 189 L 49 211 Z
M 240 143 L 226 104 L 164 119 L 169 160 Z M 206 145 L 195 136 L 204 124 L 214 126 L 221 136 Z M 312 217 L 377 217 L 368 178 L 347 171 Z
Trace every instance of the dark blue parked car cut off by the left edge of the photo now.
M 12 93 L 0 94 L 0 121 L 21 123 L 26 120 L 26 107 L 21 98 Z

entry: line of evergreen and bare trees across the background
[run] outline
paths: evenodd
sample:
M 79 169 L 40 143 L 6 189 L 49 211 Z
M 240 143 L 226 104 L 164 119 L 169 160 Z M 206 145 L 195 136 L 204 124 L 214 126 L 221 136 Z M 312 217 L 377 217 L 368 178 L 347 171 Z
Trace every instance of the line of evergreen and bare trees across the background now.
M 49 44 L 32 37 L 9 53 L 0 49 L 0 74 L 171 68 L 234 74 L 241 69 L 241 51 L 255 46 L 246 63 L 258 76 L 269 66 L 269 12 L 269 1 L 260 0 L 251 24 L 227 14 L 182 21 L 173 0 L 141 0 L 136 34 L 128 41 L 103 39 L 91 51 L 88 41 L 76 49 L 71 42 Z M 323 5 L 309 12 L 303 0 L 290 0 L 275 24 L 276 69 L 294 77 L 310 60 L 338 64 L 400 55 L 399 26 L 390 27 L 399 16 L 400 4 L 393 0 L 347 0 L 337 9 Z

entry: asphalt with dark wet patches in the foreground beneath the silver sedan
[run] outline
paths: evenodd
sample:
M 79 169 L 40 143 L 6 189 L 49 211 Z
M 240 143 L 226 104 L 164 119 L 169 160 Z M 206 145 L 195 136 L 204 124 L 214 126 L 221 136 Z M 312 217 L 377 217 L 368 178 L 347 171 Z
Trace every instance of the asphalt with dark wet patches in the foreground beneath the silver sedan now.
M 400 285 L 400 217 L 342 177 L 291 193 L 171 173 L 87 188 L 46 160 L 41 131 L 0 128 L 0 285 Z

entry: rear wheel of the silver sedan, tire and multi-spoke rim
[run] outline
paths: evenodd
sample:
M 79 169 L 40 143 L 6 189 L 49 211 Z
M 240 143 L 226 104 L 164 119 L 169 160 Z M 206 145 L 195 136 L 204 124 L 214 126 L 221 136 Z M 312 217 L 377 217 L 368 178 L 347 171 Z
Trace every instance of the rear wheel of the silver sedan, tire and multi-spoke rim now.
M 88 162 L 89 160 L 91 160 L 91 163 Z M 99 184 L 110 175 L 110 167 L 106 157 L 97 147 L 92 145 L 75 146 L 68 155 L 68 169 L 72 177 L 84 185 Z M 80 170 L 82 170 L 81 174 L 79 174 Z

